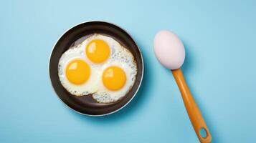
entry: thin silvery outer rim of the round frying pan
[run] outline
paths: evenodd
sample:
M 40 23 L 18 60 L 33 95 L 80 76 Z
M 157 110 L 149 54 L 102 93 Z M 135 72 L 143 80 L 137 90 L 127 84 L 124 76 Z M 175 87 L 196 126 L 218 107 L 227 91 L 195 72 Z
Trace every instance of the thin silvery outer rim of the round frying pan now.
M 76 26 L 79 26 L 80 24 L 85 24 L 85 23 L 89 23 L 89 22 L 103 22 L 103 23 L 108 23 L 108 24 L 112 24 L 113 26 L 117 26 L 119 29 L 125 31 L 125 29 L 121 28 L 120 26 L 116 25 L 116 24 L 113 24 L 109 21 L 101 21 L 101 20 L 90 20 L 90 21 L 83 21 L 83 22 L 80 22 L 78 24 L 75 24 L 74 26 L 71 26 L 69 29 L 67 29 L 63 34 L 61 34 L 59 36 L 59 38 L 57 39 L 57 41 L 55 42 L 54 46 L 52 47 L 52 51 L 54 50 L 54 47 L 56 46 L 57 42 L 60 41 L 60 39 L 62 38 L 62 36 L 64 34 L 66 34 L 68 31 L 70 31 L 71 29 L 75 28 Z M 52 87 L 52 90 L 54 91 L 54 93 L 56 94 L 56 96 L 60 99 L 60 101 L 65 104 L 66 107 L 68 107 L 69 109 L 72 109 L 72 111 L 74 112 L 77 112 L 79 114 L 83 114 L 83 115 L 86 115 L 86 116 L 90 116 L 90 117 L 103 117 L 103 116 L 106 116 L 106 115 L 109 115 L 109 114 L 113 114 L 115 112 L 118 112 L 120 111 L 120 109 L 123 109 L 124 107 L 126 107 L 132 100 L 134 97 L 136 97 L 136 94 L 138 92 L 138 90 L 140 89 L 141 87 L 141 83 L 142 83 L 142 80 L 143 80 L 143 74 L 144 74 L 144 61 L 143 61 L 143 56 L 142 56 L 142 53 L 141 53 L 141 49 L 140 47 L 138 46 L 138 44 L 136 43 L 136 41 L 132 38 L 131 34 L 128 33 L 128 31 L 125 31 L 126 34 L 128 34 L 128 36 L 131 37 L 131 39 L 134 41 L 134 43 L 136 44 L 136 46 L 138 47 L 138 51 L 139 51 L 139 54 L 141 56 L 141 79 L 140 79 L 140 83 L 138 84 L 138 88 L 136 89 L 136 92 L 133 94 L 133 97 L 131 97 L 131 99 L 126 102 L 122 107 L 118 108 L 118 109 L 115 109 L 113 112 L 109 112 L 109 113 L 105 113 L 105 114 L 85 114 L 85 113 L 82 113 L 82 112 L 78 112 L 77 110 L 75 109 L 72 109 L 72 107 L 68 106 L 65 102 L 62 101 L 62 99 L 59 97 L 59 95 L 57 94 L 57 92 L 54 90 L 54 87 L 52 85 L 52 81 L 51 81 L 51 76 L 50 76 L 50 71 L 49 71 L 49 66 L 50 66 L 50 60 L 51 60 L 51 57 L 52 57 L 52 51 L 51 51 L 51 54 L 49 55 L 49 59 L 48 59 L 48 71 L 49 71 L 49 82 L 51 83 L 51 87 Z

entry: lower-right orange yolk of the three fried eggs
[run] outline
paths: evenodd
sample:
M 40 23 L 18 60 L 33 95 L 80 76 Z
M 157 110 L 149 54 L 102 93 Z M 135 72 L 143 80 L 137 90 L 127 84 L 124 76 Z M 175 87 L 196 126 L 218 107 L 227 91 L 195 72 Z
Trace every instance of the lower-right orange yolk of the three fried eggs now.
M 103 71 L 102 79 L 107 89 L 117 91 L 125 85 L 125 71 L 118 66 L 110 66 Z

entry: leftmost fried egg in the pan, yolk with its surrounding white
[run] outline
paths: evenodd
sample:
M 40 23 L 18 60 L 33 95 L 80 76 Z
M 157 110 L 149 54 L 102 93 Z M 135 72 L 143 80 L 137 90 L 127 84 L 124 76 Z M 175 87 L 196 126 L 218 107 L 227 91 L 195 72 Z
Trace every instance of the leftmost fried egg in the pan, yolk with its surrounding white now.
M 77 97 L 97 92 L 100 78 L 98 67 L 88 64 L 82 52 L 81 45 L 68 49 L 62 54 L 58 67 L 60 83 Z

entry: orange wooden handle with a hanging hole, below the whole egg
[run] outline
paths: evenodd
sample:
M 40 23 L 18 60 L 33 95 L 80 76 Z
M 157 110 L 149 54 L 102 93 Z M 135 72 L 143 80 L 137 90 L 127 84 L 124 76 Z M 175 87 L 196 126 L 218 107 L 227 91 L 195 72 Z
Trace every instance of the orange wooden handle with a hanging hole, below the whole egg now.
M 181 96 L 186 107 L 186 112 L 189 114 L 190 121 L 193 124 L 197 137 L 202 143 L 211 142 L 212 136 L 209 132 L 207 124 L 204 122 L 204 118 L 202 117 L 199 107 L 197 107 L 196 102 L 189 91 L 189 87 L 186 85 L 186 81 L 181 69 L 172 70 L 172 73 L 174 74 L 174 79 L 178 84 L 179 91 L 181 92 Z M 206 132 L 205 137 L 202 137 L 200 130 Z

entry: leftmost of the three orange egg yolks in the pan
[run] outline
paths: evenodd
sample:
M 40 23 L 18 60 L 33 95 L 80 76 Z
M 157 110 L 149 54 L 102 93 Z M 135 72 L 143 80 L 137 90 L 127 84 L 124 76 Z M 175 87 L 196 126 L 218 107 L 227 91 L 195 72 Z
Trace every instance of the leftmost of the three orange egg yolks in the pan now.
M 66 77 L 72 84 L 83 84 L 90 77 L 90 66 L 82 59 L 72 60 L 67 64 Z

